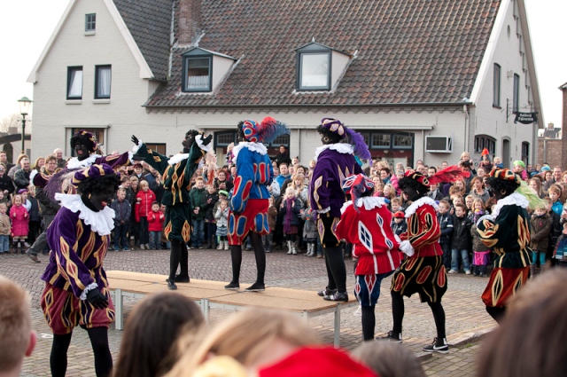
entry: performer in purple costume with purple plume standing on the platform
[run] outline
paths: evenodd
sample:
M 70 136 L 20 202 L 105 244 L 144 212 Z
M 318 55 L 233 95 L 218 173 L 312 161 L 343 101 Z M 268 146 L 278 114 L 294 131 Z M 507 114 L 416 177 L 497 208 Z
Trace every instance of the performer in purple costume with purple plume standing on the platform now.
M 315 151 L 317 163 L 309 195 L 311 206 L 317 211 L 317 230 L 329 279 L 327 287 L 317 295 L 327 301 L 348 301 L 345 260 L 340 240 L 335 234 L 341 215 L 340 208 L 346 202 L 342 184 L 351 174 L 362 173 L 354 155 L 368 161 L 371 156 L 361 134 L 348 130 L 338 119 L 323 118 L 317 132 L 322 136 L 323 145 Z

